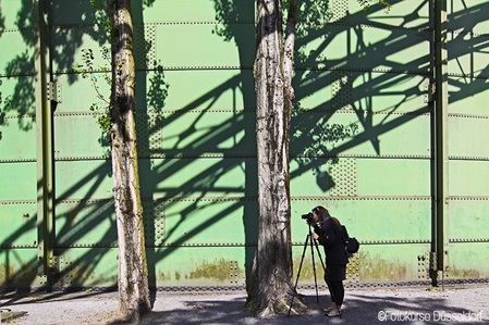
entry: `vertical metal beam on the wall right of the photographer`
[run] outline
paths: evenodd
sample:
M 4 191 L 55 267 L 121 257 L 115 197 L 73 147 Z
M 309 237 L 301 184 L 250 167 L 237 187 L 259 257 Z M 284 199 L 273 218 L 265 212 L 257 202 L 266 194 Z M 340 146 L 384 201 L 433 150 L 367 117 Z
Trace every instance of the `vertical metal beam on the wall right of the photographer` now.
M 435 204 L 433 204 L 433 266 L 437 267 L 435 284 L 441 276 L 443 285 L 444 271 L 448 259 L 448 211 L 449 211 L 449 150 L 448 150 L 448 128 L 449 128 L 449 78 L 448 78 L 448 13 L 447 0 L 435 0 L 433 7 L 433 51 L 435 51 Z M 441 272 L 441 274 L 440 274 Z

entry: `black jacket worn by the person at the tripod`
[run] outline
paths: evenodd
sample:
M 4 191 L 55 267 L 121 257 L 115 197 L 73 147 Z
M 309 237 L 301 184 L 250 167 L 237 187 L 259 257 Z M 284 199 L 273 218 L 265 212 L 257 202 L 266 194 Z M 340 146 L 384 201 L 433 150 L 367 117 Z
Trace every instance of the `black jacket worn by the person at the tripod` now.
M 315 225 L 314 232 L 319 235 L 318 242 L 325 247 L 327 265 L 345 265 L 349 263 L 349 254 L 345 250 L 349 235 L 346 229 L 332 217 L 328 217 L 321 227 Z

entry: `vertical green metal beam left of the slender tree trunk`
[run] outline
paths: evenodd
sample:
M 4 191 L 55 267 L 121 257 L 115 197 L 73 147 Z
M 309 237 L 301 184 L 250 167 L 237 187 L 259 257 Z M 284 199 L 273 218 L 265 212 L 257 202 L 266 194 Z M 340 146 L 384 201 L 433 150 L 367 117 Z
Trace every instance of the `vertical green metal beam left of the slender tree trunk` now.
M 50 261 L 53 232 L 53 161 L 52 114 L 47 97 L 49 86 L 48 5 L 49 0 L 33 0 L 37 15 L 36 29 L 36 148 L 37 148 L 37 229 L 38 275 L 46 276 L 47 288 L 51 286 Z

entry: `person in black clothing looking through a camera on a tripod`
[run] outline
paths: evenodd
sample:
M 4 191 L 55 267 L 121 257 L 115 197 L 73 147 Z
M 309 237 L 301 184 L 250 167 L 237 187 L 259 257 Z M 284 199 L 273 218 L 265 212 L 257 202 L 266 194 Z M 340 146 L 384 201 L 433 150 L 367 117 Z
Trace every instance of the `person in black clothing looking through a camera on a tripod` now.
M 343 280 L 346 278 L 346 263 L 349 262 L 345 250 L 347 234 L 344 234 L 340 222 L 332 217 L 326 208 L 320 205 L 313 209 L 313 215 L 307 222 L 314 227 L 311 237 L 325 247 L 325 280 L 332 303 L 323 311 L 329 317 L 341 316 L 341 304 L 344 298 Z

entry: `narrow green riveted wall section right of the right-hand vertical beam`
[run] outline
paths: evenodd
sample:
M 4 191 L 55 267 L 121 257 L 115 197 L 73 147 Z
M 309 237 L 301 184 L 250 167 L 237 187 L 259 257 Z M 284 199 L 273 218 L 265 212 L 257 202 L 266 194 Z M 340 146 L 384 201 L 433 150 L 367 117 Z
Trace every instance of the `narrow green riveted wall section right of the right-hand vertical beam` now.
M 443 271 L 447 280 L 487 278 L 488 8 L 484 1 L 448 4 L 450 208 Z

